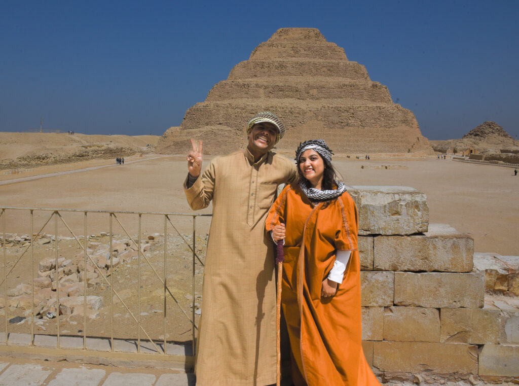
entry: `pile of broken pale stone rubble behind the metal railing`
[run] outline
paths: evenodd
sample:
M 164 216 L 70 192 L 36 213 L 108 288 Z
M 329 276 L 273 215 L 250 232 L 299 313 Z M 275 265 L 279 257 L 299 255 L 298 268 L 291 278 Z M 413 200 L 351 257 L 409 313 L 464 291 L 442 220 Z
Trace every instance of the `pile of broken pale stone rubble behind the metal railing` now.
M 107 236 L 101 232 L 100 236 Z M 141 242 L 141 252 L 147 252 L 155 239 L 159 236 L 147 236 Z M 84 238 L 83 236 L 80 236 Z M 88 238 L 96 237 L 91 235 Z M 72 237 L 58 237 L 58 241 L 71 240 Z M 43 235 L 35 239 L 36 245 L 52 244 L 56 238 L 52 235 Z M 0 237 L 0 245 L 4 239 Z M 31 237 L 29 235 L 6 234 L 5 246 L 29 247 Z M 36 318 L 53 318 L 56 315 L 83 315 L 84 314 L 84 288 L 92 288 L 105 282 L 104 277 L 110 276 L 112 269 L 125 261 L 138 257 L 136 244 L 129 238 L 114 239 L 112 253 L 109 244 L 100 242 L 88 242 L 88 256 L 80 251 L 70 258 L 47 257 L 39 261 L 38 273 L 34 279 L 34 315 Z M 86 261 L 86 263 L 85 263 Z M 57 283 L 59 282 L 59 286 Z M 85 283 L 86 282 L 86 283 Z M 59 287 L 59 288 L 58 288 Z M 59 296 L 59 310 L 57 310 L 57 297 Z M 31 284 L 19 284 L 16 288 L 7 291 L 7 305 L 10 308 L 24 310 L 26 316 L 32 309 Z M 99 316 L 99 311 L 104 307 L 104 300 L 100 296 L 87 296 L 87 316 L 94 319 Z M 0 309 L 5 307 L 5 297 L 0 297 Z

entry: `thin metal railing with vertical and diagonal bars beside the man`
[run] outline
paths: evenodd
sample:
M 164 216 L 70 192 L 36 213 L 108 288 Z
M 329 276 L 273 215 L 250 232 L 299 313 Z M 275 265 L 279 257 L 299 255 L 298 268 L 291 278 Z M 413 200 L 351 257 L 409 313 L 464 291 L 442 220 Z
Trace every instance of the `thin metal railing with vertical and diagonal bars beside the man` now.
M 10 212 L 15 212 L 16 214 L 19 214 L 20 211 L 22 212 L 22 216 L 24 216 L 23 212 L 27 212 L 27 215 L 29 216 L 29 234 L 30 239 L 28 240 L 28 243 L 25 243 L 23 247 L 21 247 L 21 252 L 18 257 L 15 257 L 13 260 L 8 262 L 7 259 L 7 225 L 6 225 L 6 218 Z M 43 226 L 39 228 L 39 230 L 34 233 L 34 223 L 35 223 L 35 213 L 40 214 L 40 217 L 43 217 Z M 84 217 L 83 219 L 83 235 L 77 235 L 74 232 L 73 228 L 66 220 L 65 220 L 65 213 L 74 212 L 76 215 L 82 215 Z M 89 238 L 91 238 L 88 235 L 88 220 L 89 216 L 92 216 L 92 214 L 101 214 L 102 216 L 107 215 L 108 217 L 108 223 L 109 223 L 109 232 L 108 232 L 108 248 L 110 251 L 110 268 L 107 269 L 106 272 L 104 272 L 104 269 L 101 269 L 99 267 L 99 261 L 97 261 L 93 256 L 93 251 L 89 249 Z M 136 235 L 131 236 L 128 224 L 125 225 L 124 221 L 121 220 L 121 217 L 130 217 L 130 218 L 136 218 L 138 220 L 138 232 Z M 154 218 L 160 218 L 163 217 L 163 251 L 160 252 L 162 255 L 162 275 L 158 272 L 156 267 L 154 267 L 154 264 L 151 261 L 151 257 L 147 256 L 148 254 L 144 253 L 144 247 L 142 245 L 142 218 L 143 216 Z M 117 298 L 122 307 L 124 307 L 124 310 L 131 316 L 133 321 L 137 325 L 137 331 L 136 331 L 136 353 L 141 353 L 141 334 L 144 335 L 144 338 L 151 344 L 153 349 L 149 349 L 149 346 L 145 350 L 146 354 L 156 354 L 156 355 L 162 355 L 162 356 L 168 356 L 171 353 L 168 352 L 168 341 L 167 341 L 167 321 L 168 321 L 168 307 L 167 307 L 167 300 L 171 299 L 175 303 L 176 307 L 180 310 L 181 314 L 185 316 L 185 318 L 190 323 L 190 329 L 191 329 L 191 343 L 192 343 L 192 355 L 195 355 L 195 340 L 196 340 L 196 330 L 198 326 L 195 323 L 195 309 L 196 309 L 196 296 L 195 296 L 195 274 L 196 272 L 196 265 L 201 265 L 203 267 L 203 261 L 200 256 L 197 254 L 197 229 L 196 229 L 196 218 L 197 217 L 209 217 L 211 215 L 209 214 L 184 214 L 184 213 L 164 213 L 164 212 L 130 212 L 130 211 L 107 211 L 107 210 L 80 210 L 80 209 L 51 209 L 51 208 L 20 208 L 20 207 L 2 207 L 0 208 L 0 223 L 2 224 L 2 233 L 0 233 L 0 236 L 2 237 L 2 249 L 3 249 L 3 278 L 0 277 L 0 288 L 4 290 L 4 325 L 5 325 L 5 345 L 10 345 L 9 341 L 9 321 L 8 321 L 8 311 L 9 308 L 9 302 L 8 302 L 8 281 L 11 281 L 9 279 L 9 275 L 12 274 L 13 270 L 15 270 L 16 267 L 21 267 L 24 263 L 22 258 L 27 254 L 29 251 L 29 260 L 30 260 L 30 280 L 31 280 L 31 312 L 30 312 L 30 324 L 31 324 L 31 332 L 30 332 L 30 341 L 28 342 L 29 347 L 35 346 L 35 336 L 38 334 L 35 334 L 35 244 L 36 240 L 41 238 L 42 234 L 44 234 L 44 229 L 49 224 L 53 224 L 53 243 L 52 248 L 54 249 L 54 271 L 50 273 L 51 276 L 53 276 L 52 282 L 56 283 L 56 300 L 53 302 L 55 309 L 56 309 L 56 349 L 61 349 L 62 344 L 60 342 L 60 336 L 61 334 L 61 326 L 60 326 L 60 286 L 63 286 L 60 284 L 60 237 L 63 237 L 63 235 L 59 235 L 58 232 L 58 224 L 64 225 L 67 234 L 72 235 L 72 237 L 68 237 L 67 239 L 70 239 L 71 242 L 75 242 L 76 245 L 80 249 L 80 253 L 83 253 L 83 335 L 82 340 L 83 344 L 82 347 L 79 347 L 79 349 L 87 351 L 92 350 L 88 347 L 87 341 L 92 336 L 98 336 L 99 334 L 95 334 L 95 332 L 98 331 L 88 331 L 89 326 L 87 323 L 87 292 L 88 292 L 88 283 L 87 283 L 87 267 L 93 267 L 94 272 L 97 272 L 99 275 L 98 277 L 101 279 L 101 282 L 104 283 L 107 287 L 110 288 L 110 351 L 115 352 L 116 350 L 116 344 L 114 342 L 114 299 Z M 172 221 L 172 218 L 188 218 L 190 217 L 192 219 L 192 235 L 187 236 L 182 234 L 179 229 L 175 226 L 174 222 Z M 53 221 L 52 221 L 53 220 Z M 129 243 L 135 248 L 137 252 L 136 260 L 137 260 L 137 290 L 136 294 L 132 294 L 137 298 L 137 311 L 132 312 L 129 305 L 124 301 L 124 297 L 121 296 L 120 291 L 117 291 L 115 289 L 115 283 L 114 283 L 114 277 L 117 275 L 117 270 L 115 270 L 114 266 L 114 222 L 118 225 L 118 227 L 124 232 L 124 235 L 126 235 L 126 239 L 129 241 Z M 168 227 L 169 224 L 169 227 Z M 50 226 L 50 225 L 49 225 Z M 77 228 L 77 226 L 75 227 Z M 171 231 L 172 230 L 172 231 Z M 170 232 L 170 233 L 168 233 Z M 173 233 L 174 232 L 174 233 Z M 14 232 L 11 232 L 11 234 Z M 176 235 L 174 235 L 176 234 Z M 181 240 L 181 243 L 184 243 L 187 245 L 188 249 L 191 252 L 191 294 L 190 297 L 192 298 L 192 304 L 190 307 L 192 308 L 192 312 L 189 313 L 182 307 L 181 302 L 179 299 L 177 299 L 177 296 L 173 293 L 171 287 L 168 285 L 168 279 L 167 279 L 167 273 L 168 268 L 170 270 L 174 270 L 175 267 L 168 267 L 168 260 L 171 260 L 170 254 L 168 254 L 168 242 L 169 240 L 173 239 L 173 237 L 177 237 L 177 240 Z M 83 238 L 83 240 L 81 240 Z M 189 241 L 189 238 L 191 240 Z M 69 246 L 70 247 L 70 246 Z M 99 257 L 98 257 L 99 258 Z M 107 257 L 108 260 L 108 257 Z M 22 263 L 21 263 L 22 262 Z M 89 265 L 90 264 L 90 265 Z M 10 267 L 8 267 L 10 265 Z M 162 287 L 162 335 L 163 338 L 160 340 L 153 339 L 152 335 L 146 326 L 145 323 L 142 321 L 142 310 L 141 310 L 141 291 L 143 288 L 143 282 L 142 282 L 142 266 L 147 267 L 152 272 L 152 277 L 155 283 L 159 283 Z M 64 272 L 64 271 L 63 271 Z M 79 269 L 77 270 L 79 272 Z M 81 273 L 79 273 L 79 276 L 81 276 Z M 146 276 L 148 277 L 148 276 Z M 51 277 L 52 279 L 52 277 Z M 12 283 L 12 281 L 11 281 Z M 186 296 L 187 298 L 187 296 Z M 52 316 L 51 316 L 52 317 Z M 79 330 L 81 331 L 81 330 Z M 88 332 L 87 332 L 88 331 Z M 157 332 L 157 331 L 154 331 Z M 131 334 L 129 334 L 131 335 Z M 119 338 L 120 339 L 120 338 Z M 125 338 L 123 338 L 125 339 Z M 130 339 L 130 338 L 128 338 Z M 125 339 L 125 340 L 128 340 Z M 0 345 L 2 343 L 0 342 Z M 95 350 L 94 350 L 95 351 Z

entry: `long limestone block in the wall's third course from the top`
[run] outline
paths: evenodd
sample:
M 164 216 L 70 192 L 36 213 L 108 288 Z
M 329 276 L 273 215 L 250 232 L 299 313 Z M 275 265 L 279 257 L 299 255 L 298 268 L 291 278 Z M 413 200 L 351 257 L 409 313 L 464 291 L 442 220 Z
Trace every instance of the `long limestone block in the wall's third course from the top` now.
M 428 308 L 483 308 L 479 273 L 395 272 L 394 304 Z

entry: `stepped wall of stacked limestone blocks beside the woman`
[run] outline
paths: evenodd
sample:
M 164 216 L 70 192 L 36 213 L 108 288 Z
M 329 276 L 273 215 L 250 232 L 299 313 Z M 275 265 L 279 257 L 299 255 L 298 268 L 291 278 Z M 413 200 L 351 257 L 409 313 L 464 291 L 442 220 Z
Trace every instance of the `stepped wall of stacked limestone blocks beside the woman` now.
M 499 281 L 501 295 L 506 288 L 516 296 L 509 288 L 519 258 L 499 265 L 495 254 L 474 254 L 469 236 L 429 224 L 427 198 L 412 188 L 348 191 L 360 208 L 362 339 L 375 374 L 415 383 L 518 381 L 519 313 L 489 307 L 485 288 L 488 295 Z

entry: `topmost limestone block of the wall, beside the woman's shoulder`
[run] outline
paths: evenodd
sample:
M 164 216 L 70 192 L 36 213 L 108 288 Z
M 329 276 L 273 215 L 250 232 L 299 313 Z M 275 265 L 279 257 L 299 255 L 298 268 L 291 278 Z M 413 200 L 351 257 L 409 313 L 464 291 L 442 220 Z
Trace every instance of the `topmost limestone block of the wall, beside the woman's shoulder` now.
M 348 192 L 359 210 L 359 235 L 427 232 L 429 206 L 424 193 L 409 187 L 356 185 Z

